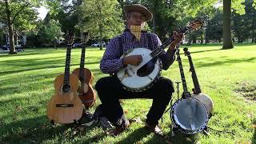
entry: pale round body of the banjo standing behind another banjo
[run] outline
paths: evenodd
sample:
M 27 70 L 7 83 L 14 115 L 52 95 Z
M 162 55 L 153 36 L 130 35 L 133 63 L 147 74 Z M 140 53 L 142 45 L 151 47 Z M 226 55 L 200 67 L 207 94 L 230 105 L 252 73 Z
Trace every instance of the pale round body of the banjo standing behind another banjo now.
M 206 109 L 208 110 L 209 118 L 213 115 L 214 113 L 214 102 L 213 100 L 206 94 L 191 94 L 192 98 L 198 99 L 200 102 L 202 102 L 205 106 Z

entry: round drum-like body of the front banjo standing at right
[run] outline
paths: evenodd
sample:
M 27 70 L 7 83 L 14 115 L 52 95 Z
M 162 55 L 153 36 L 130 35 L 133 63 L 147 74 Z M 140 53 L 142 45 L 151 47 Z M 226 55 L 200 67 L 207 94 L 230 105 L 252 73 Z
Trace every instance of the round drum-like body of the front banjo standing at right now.
M 196 134 L 204 130 L 208 122 L 206 106 L 195 98 L 181 98 L 170 111 L 173 126 L 183 134 Z

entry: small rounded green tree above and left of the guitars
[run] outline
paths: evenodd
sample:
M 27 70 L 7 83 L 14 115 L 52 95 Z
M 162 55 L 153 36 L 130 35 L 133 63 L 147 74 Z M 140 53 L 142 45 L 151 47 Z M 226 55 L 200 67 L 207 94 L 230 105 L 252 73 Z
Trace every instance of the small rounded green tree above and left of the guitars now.
M 62 37 L 64 33 L 62 32 L 61 25 L 58 20 L 50 20 L 50 22 L 44 26 L 43 33 L 47 41 L 54 43 L 55 50 L 57 50 L 56 43 L 64 40 Z

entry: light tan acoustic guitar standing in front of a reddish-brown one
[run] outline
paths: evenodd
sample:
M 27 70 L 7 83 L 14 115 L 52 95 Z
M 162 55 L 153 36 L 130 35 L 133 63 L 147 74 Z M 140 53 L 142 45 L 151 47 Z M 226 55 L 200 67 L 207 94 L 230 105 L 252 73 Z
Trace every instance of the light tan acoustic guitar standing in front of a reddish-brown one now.
M 73 41 L 74 34 L 70 32 L 66 49 L 65 73 L 55 78 L 55 94 L 47 106 L 47 117 L 53 124 L 73 123 L 82 117 L 82 101 L 77 94 L 79 79 L 74 74 L 70 74 L 70 54 Z

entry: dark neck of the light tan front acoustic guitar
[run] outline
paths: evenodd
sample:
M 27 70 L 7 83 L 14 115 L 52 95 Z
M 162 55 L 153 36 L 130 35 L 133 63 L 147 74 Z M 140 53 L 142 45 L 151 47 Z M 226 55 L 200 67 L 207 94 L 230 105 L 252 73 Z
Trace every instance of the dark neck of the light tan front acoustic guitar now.
M 66 49 L 66 64 L 65 64 L 65 73 L 64 73 L 64 84 L 70 83 L 70 55 L 71 55 L 72 45 L 68 45 Z

